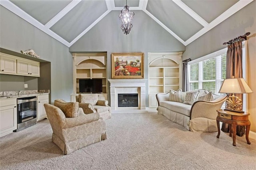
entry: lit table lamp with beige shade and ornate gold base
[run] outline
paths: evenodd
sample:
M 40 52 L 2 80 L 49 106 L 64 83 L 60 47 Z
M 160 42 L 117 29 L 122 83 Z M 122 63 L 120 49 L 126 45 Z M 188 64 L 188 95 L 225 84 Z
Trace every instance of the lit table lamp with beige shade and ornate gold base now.
M 232 93 L 232 96 L 228 97 L 226 100 L 226 108 L 224 110 L 244 113 L 244 111 L 242 111 L 242 100 L 234 96 L 234 94 L 252 93 L 252 90 L 247 85 L 244 78 L 234 78 L 234 76 L 232 76 L 231 79 L 224 79 L 219 93 Z

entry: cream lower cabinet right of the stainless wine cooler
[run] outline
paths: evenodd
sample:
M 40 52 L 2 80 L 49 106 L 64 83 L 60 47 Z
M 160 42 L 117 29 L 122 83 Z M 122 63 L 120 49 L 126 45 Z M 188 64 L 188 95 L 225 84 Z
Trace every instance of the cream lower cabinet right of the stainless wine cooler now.
M 49 95 L 38 95 L 37 96 L 37 115 L 36 121 L 40 121 L 47 118 L 46 111 L 44 109 L 44 104 L 49 103 Z

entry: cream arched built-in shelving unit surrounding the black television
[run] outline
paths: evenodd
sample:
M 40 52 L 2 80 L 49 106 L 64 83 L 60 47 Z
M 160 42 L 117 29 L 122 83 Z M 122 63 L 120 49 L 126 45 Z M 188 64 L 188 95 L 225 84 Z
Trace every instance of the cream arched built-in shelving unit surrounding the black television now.
M 101 79 L 102 92 L 98 97 L 107 100 L 107 53 L 72 53 L 72 56 L 74 93 L 71 94 L 71 101 L 76 101 L 76 96 L 81 93 L 80 79 Z

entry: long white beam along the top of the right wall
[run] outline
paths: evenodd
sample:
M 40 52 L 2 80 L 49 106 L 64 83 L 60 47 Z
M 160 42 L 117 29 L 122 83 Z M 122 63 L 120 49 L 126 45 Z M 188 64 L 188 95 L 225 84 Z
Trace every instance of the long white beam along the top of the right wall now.
M 236 2 L 233 6 L 231 6 L 228 10 L 223 12 L 220 16 L 218 16 L 215 20 L 213 20 L 208 26 L 202 28 L 199 32 L 194 34 L 192 37 L 190 37 L 184 45 L 188 45 L 192 43 L 194 40 L 198 39 L 200 36 L 204 35 L 206 32 L 220 24 L 222 21 L 226 20 L 230 16 L 232 16 L 234 13 L 238 12 L 242 8 L 244 8 L 246 5 L 250 4 L 254 0 L 240 0 Z

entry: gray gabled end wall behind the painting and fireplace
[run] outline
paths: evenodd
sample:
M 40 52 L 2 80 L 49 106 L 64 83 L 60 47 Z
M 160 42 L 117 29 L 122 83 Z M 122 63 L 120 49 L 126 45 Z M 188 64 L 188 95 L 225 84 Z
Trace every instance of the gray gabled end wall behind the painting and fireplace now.
M 111 79 L 111 53 L 143 52 L 144 78 L 148 79 L 148 52 L 179 52 L 184 51 L 185 46 L 143 11 L 134 11 L 134 13 L 130 34 L 125 35 L 120 28 L 121 21 L 118 18 L 120 11 L 112 11 L 69 50 L 71 52 L 107 51 L 108 79 Z M 148 89 L 146 91 L 148 93 Z

